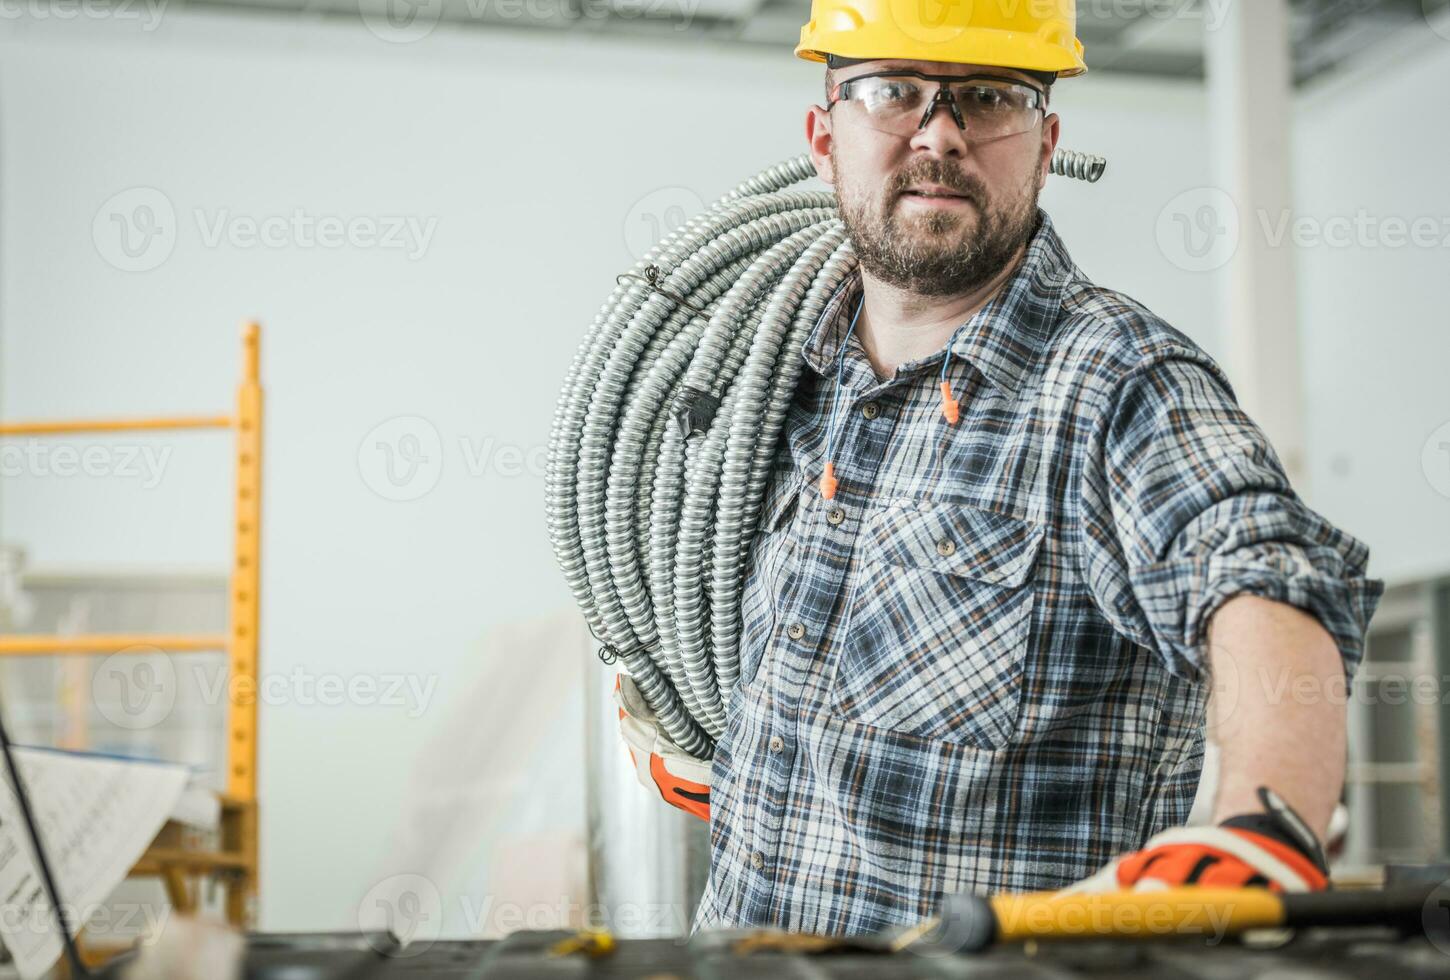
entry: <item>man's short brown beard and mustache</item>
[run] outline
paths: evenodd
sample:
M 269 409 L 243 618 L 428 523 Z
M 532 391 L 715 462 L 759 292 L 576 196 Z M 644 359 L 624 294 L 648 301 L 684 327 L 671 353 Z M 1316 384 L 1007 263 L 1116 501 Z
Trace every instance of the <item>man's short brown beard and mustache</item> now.
M 918 296 L 972 293 L 998 275 L 1037 232 L 1035 173 L 1012 200 L 993 206 L 980 177 L 941 159 L 916 159 L 877 187 L 848 180 L 834 146 L 831 162 L 837 207 L 861 268 L 896 288 Z M 902 213 L 902 194 L 918 183 L 940 184 L 970 199 L 976 223 L 966 209 Z

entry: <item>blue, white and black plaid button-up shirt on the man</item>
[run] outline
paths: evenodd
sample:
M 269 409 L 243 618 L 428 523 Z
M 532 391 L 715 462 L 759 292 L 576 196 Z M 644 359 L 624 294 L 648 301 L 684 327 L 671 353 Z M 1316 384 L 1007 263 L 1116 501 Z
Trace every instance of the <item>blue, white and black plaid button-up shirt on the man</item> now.
M 1237 593 L 1308 610 L 1346 671 L 1383 584 L 1293 493 L 1227 378 L 1093 286 L 1045 213 L 942 352 L 879 380 L 806 341 L 742 596 L 696 928 L 860 934 L 945 893 L 1056 889 L 1188 818 L 1204 636 Z

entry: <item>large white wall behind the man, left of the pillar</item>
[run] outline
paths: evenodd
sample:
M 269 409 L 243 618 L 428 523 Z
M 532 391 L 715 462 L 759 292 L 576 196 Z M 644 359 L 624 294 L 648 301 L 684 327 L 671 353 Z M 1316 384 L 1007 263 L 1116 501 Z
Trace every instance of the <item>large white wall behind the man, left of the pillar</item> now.
M 516 899 L 521 865 L 567 887 L 579 671 L 597 667 L 576 658 L 541 473 L 470 454 L 541 458 L 577 338 L 651 220 L 799 152 L 819 70 L 786 46 L 442 28 L 389 45 L 345 22 L 174 12 L 154 32 L 0 32 L 0 415 L 226 412 L 236 323 L 260 317 L 264 671 L 436 681 L 402 707 L 264 705 L 262 925 L 354 926 L 392 871 L 438 877 L 452 932 L 461 893 Z M 1102 184 L 1044 202 L 1074 258 L 1214 349 L 1211 278 L 1156 242 L 1164 204 L 1209 178 L 1201 93 L 1089 77 L 1057 109 L 1064 145 L 1112 159 Z M 174 209 L 174 246 L 122 271 L 112 212 L 162 200 L 107 203 L 136 187 Z M 209 245 L 197 225 L 293 209 L 436 231 L 409 258 Z M 420 422 L 373 432 L 399 418 Z M 389 500 L 376 447 L 407 435 L 441 473 Z M 225 564 L 226 447 L 155 445 L 173 455 L 151 489 L 7 477 L 3 538 L 46 567 Z M 448 839 L 429 850 L 434 819 Z

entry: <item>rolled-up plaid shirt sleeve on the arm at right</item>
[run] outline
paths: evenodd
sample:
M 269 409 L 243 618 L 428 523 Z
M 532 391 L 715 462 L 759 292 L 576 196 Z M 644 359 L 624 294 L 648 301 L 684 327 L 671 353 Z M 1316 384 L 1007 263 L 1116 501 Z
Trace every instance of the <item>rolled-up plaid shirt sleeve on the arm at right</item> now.
M 1209 619 L 1248 593 L 1315 616 L 1353 676 L 1385 590 L 1364 577 L 1369 549 L 1293 493 L 1208 355 L 1174 349 L 1132 368 L 1088 444 L 1083 571 L 1115 631 L 1198 678 Z

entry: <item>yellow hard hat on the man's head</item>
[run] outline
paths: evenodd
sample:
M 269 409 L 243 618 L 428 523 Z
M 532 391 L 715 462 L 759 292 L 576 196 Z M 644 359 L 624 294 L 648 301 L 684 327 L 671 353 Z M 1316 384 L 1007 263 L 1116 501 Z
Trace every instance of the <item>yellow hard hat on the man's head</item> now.
M 811 0 L 796 55 L 1088 71 L 1076 0 Z

